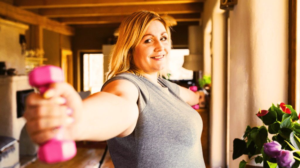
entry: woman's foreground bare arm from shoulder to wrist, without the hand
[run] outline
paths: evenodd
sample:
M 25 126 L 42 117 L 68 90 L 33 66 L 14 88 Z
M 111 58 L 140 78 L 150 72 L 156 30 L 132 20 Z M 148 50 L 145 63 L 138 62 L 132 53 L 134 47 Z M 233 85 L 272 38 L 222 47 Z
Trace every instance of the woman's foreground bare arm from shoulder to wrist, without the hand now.
M 139 115 L 137 87 L 127 80 L 115 80 L 83 101 L 85 113 L 78 123 L 85 140 L 124 137 L 134 130 Z

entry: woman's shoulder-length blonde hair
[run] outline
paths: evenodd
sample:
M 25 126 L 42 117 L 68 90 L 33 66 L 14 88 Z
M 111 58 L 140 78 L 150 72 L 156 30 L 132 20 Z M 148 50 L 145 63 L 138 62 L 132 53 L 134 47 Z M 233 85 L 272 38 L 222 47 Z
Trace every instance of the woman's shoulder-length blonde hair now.
M 119 37 L 110 55 L 107 79 L 122 72 L 129 72 L 142 76 L 143 70 L 137 68 L 133 62 L 133 51 L 142 40 L 150 22 L 159 20 L 168 33 L 167 39 L 171 45 L 170 23 L 161 18 L 157 13 L 140 10 L 125 18 L 119 27 Z M 159 76 L 167 75 L 167 68 L 159 71 Z

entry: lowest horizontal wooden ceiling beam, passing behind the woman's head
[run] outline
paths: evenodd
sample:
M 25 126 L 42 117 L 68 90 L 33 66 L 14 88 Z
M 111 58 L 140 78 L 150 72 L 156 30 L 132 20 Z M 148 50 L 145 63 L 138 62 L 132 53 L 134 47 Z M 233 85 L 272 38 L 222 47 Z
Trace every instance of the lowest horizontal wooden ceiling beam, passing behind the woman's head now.
M 174 14 L 177 22 L 199 22 L 200 13 L 193 14 Z M 121 23 L 126 16 L 93 16 L 93 17 L 72 17 L 60 18 L 59 20 L 66 25 L 85 25 L 85 24 L 112 24 Z

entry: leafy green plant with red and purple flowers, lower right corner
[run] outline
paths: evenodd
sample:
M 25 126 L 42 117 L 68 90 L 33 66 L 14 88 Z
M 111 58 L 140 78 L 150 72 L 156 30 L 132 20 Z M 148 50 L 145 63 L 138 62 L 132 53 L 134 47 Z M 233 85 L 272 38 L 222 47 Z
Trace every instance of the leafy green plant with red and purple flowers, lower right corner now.
M 264 168 L 297 168 L 300 164 L 300 118 L 290 105 L 279 103 L 256 114 L 262 126 L 247 126 L 242 139 L 233 140 L 232 158 L 241 155 L 263 163 Z M 271 139 L 269 139 L 271 137 Z M 256 157 L 253 157 L 257 155 Z M 239 168 L 248 162 L 242 160 Z

